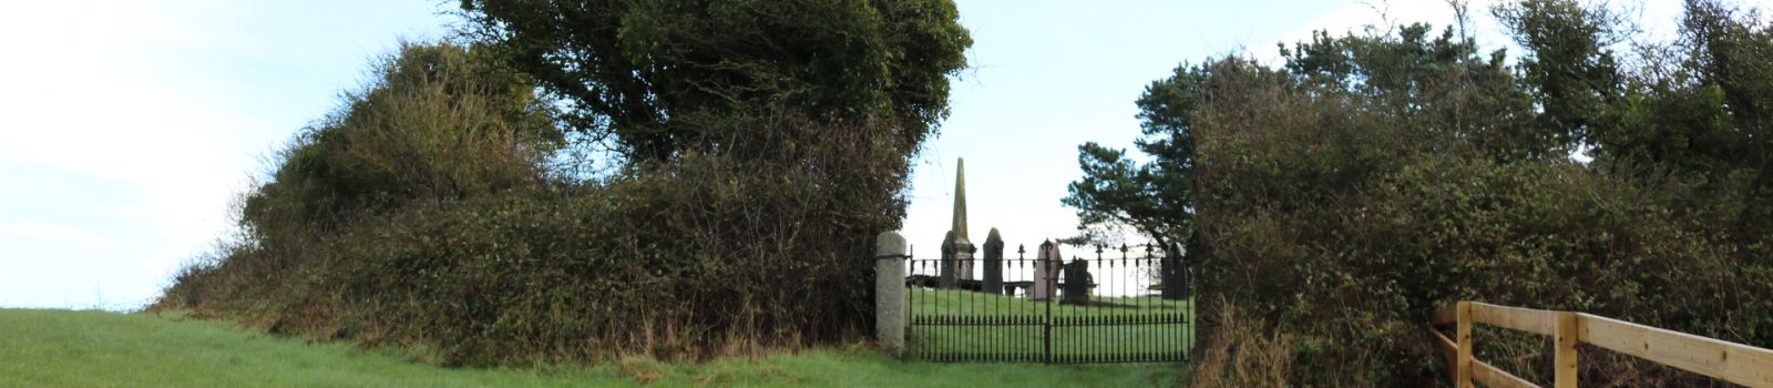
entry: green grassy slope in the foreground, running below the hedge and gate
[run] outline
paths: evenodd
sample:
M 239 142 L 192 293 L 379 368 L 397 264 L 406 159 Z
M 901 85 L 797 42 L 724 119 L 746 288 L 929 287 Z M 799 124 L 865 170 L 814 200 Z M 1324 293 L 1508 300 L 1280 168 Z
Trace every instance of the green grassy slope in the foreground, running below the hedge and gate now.
M 0 310 L 0 386 L 1174 386 L 1175 365 L 897 361 L 869 347 L 709 363 L 441 369 L 172 315 Z

